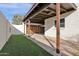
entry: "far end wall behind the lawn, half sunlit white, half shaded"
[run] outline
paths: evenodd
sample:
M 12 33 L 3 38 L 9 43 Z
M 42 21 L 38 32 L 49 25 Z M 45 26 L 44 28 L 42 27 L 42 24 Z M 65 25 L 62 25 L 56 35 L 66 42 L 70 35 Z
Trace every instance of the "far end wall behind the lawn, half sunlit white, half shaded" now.
M 22 25 L 12 24 L 12 34 L 13 35 L 24 34 L 24 24 Z

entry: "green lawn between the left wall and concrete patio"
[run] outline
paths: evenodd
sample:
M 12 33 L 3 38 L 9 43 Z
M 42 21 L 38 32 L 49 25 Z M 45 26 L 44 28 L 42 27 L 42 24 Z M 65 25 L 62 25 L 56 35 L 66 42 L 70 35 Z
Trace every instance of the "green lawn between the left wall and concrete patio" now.
M 51 56 L 37 44 L 27 39 L 23 35 L 12 35 L 3 49 L 2 56 Z

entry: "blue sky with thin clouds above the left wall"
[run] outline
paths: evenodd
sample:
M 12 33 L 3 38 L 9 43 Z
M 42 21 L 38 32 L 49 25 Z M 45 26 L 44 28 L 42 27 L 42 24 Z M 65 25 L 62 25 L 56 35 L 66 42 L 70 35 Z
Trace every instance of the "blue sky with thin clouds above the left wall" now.
M 31 3 L 2 3 L 0 4 L 0 11 L 5 15 L 9 22 L 12 22 L 14 15 L 24 16 L 32 7 Z

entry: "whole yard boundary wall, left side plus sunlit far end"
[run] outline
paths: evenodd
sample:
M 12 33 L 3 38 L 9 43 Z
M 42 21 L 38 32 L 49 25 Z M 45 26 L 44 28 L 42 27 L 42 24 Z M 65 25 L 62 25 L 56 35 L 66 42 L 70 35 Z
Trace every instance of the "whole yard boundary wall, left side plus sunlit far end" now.
M 0 12 L 0 50 L 3 48 L 11 35 L 19 34 L 24 34 L 24 24 L 10 24 L 2 12 Z

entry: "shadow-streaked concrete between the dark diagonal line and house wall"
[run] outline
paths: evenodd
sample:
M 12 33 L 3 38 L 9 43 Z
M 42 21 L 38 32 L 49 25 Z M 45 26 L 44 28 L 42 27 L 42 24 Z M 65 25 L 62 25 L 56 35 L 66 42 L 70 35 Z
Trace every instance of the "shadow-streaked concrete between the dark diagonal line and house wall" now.
M 47 37 L 49 41 L 53 44 L 55 47 L 55 38 Z M 64 40 L 61 39 L 61 55 L 63 56 L 79 56 L 79 43 L 74 42 L 71 39 Z

